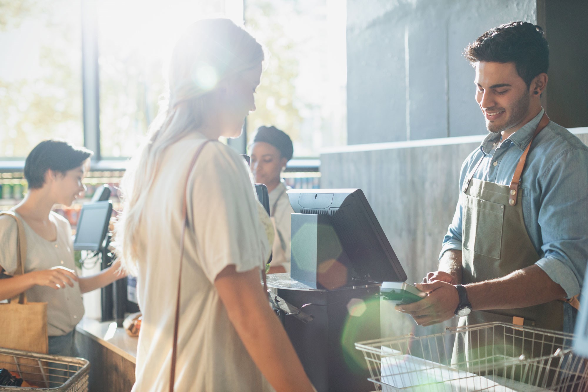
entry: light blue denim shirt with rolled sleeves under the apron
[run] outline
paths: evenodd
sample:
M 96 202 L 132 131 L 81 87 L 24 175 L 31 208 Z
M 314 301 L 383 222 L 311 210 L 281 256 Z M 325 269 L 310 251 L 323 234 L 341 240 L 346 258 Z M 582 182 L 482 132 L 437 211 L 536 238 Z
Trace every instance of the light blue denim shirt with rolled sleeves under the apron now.
M 463 162 L 460 192 L 466 173 L 482 157 L 473 177 L 510 185 L 542 116 L 543 109 L 496 149 L 500 133 L 489 133 Z M 579 294 L 588 260 L 588 147 L 567 129 L 549 122 L 533 140 L 520 186 L 524 226 L 541 257 L 535 264 L 562 286 L 568 298 Z M 459 201 L 439 259 L 449 249 L 462 249 Z

